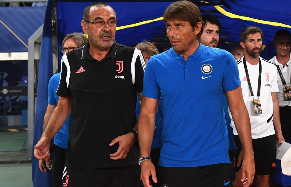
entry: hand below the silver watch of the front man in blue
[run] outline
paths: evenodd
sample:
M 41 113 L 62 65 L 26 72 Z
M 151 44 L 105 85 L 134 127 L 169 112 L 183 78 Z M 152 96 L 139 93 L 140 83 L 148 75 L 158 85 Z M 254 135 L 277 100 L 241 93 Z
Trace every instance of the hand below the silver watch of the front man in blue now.
M 149 181 L 149 176 L 152 176 L 152 181 L 157 183 L 156 169 L 150 160 L 145 160 L 141 163 L 140 178 L 144 187 L 152 187 Z

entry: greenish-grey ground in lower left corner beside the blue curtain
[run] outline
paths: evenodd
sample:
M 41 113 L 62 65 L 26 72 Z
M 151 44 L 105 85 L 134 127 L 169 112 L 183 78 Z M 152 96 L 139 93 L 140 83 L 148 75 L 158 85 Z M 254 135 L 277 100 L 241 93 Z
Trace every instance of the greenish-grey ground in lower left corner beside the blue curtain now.
M 27 131 L 0 132 L 0 186 L 33 187 Z

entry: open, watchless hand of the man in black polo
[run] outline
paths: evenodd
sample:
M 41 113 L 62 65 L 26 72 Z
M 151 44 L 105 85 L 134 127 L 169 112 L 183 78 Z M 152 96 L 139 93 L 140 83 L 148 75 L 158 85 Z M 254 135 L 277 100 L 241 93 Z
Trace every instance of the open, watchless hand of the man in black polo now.
M 37 160 L 46 160 L 49 156 L 50 141 L 42 137 L 34 146 L 34 156 Z

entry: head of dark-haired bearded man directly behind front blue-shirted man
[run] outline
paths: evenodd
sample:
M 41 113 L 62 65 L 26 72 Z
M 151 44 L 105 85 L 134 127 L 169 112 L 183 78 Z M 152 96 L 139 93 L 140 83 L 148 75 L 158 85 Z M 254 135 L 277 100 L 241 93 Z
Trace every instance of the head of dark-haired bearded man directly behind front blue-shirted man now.
M 210 14 L 203 15 L 202 20 L 204 26 L 199 42 L 205 46 L 216 48 L 219 42 L 221 23 L 215 16 Z

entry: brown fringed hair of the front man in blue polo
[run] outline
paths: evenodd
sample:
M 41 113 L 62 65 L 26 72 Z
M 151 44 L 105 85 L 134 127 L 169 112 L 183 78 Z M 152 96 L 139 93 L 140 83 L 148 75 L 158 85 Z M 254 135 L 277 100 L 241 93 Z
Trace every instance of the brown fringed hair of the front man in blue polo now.
M 203 25 L 203 20 L 201 17 L 201 12 L 199 8 L 192 2 L 189 1 L 176 1 L 166 8 L 164 13 L 164 22 L 176 19 L 180 21 L 189 21 L 192 28 L 195 29 L 198 22 Z M 203 32 L 203 27 L 199 34 L 197 34 L 198 39 Z

